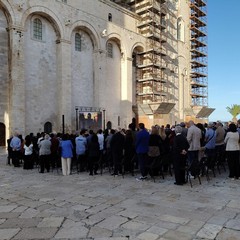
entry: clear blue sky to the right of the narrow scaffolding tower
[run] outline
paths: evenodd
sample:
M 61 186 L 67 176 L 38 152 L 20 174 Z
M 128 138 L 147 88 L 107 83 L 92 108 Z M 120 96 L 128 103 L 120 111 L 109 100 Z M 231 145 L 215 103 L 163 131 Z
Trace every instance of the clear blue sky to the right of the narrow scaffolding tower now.
M 240 0 L 208 0 L 208 105 L 210 121 L 229 121 L 240 105 Z M 238 115 L 240 118 L 240 115 Z

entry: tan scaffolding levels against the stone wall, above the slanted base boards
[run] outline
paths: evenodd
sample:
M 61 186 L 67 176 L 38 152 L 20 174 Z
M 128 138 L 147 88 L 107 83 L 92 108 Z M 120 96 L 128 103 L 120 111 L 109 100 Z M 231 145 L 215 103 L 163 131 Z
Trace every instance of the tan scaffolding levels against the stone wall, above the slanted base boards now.
M 166 9 L 165 1 L 136 0 L 135 12 L 141 16 L 140 33 L 147 38 L 147 49 L 138 53 L 137 104 L 167 101 Z

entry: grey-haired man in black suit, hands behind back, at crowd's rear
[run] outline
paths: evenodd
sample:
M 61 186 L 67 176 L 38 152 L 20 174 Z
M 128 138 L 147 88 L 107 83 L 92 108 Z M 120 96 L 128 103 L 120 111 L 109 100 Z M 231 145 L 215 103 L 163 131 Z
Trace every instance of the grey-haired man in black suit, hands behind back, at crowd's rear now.
M 187 150 L 189 143 L 184 135 L 182 135 L 182 127 L 175 127 L 176 136 L 173 142 L 173 165 L 176 185 L 185 183 L 185 166 L 187 160 Z

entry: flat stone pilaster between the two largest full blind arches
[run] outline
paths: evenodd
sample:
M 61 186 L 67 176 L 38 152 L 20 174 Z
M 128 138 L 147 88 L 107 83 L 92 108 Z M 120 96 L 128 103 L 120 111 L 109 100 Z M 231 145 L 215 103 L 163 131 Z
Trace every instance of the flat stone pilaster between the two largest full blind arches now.
M 64 115 L 64 132 L 71 133 L 75 129 L 75 108 L 72 106 L 72 61 L 71 41 L 57 40 L 58 52 L 58 90 L 59 90 L 59 131 L 62 131 L 62 116 Z

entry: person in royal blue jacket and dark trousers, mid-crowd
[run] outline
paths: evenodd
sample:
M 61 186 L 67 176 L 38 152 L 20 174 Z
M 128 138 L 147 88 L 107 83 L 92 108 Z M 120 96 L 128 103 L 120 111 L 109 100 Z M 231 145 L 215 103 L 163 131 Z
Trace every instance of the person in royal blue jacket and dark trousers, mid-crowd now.
M 138 157 L 138 164 L 141 172 L 139 180 L 147 178 L 146 164 L 148 160 L 148 144 L 149 144 L 149 132 L 144 126 L 144 123 L 139 123 L 139 131 L 136 135 L 136 153 Z

